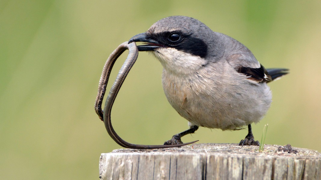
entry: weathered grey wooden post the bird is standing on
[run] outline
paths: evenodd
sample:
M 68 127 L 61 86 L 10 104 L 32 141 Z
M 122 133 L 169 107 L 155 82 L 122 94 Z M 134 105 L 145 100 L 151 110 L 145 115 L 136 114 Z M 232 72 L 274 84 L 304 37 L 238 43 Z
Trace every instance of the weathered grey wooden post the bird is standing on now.
M 100 156 L 107 179 L 321 179 L 321 153 L 279 145 L 194 144 L 154 150 L 118 149 Z

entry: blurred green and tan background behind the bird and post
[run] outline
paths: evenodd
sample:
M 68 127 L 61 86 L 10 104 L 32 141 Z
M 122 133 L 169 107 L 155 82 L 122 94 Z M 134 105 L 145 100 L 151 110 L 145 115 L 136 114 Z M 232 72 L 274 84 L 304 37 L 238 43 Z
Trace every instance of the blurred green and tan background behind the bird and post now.
M 254 135 L 268 123 L 265 143 L 321 150 L 319 0 L 1 0 L 0 178 L 98 179 L 100 153 L 121 148 L 94 111 L 103 65 L 120 43 L 171 15 L 234 37 L 266 68 L 289 68 L 270 83 L 273 103 Z M 188 128 L 166 100 L 161 72 L 154 57 L 139 54 L 112 111 L 126 141 L 162 144 Z M 238 143 L 246 134 L 200 128 L 183 141 Z

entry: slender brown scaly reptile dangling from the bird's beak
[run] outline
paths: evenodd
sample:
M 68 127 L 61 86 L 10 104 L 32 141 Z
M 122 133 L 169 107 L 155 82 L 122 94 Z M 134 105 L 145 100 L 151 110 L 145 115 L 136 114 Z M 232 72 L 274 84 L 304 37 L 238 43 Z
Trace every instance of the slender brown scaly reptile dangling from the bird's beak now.
M 101 109 L 101 104 L 103 102 L 103 98 L 106 92 L 107 83 L 109 80 L 109 76 L 111 73 L 111 70 L 114 66 L 115 61 L 117 58 L 124 52 L 126 49 L 129 50 L 128 56 L 126 61 L 124 62 L 123 66 L 119 70 L 119 73 L 116 77 L 116 80 L 111 87 L 109 94 L 107 96 L 104 110 Z M 136 44 L 128 42 L 124 42 L 121 45 L 119 45 L 108 57 L 105 66 L 102 70 L 99 86 L 98 86 L 98 94 L 96 97 L 95 102 L 95 111 L 98 114 L 99 118 L 104 121 L 106 130 L 110 137 L 119 145 L 125 147 L 125 148 L 132 148 L 132 149 L 158 149 L 158 148 L 170 148 L 170 147 L 179 147 L 191 143 L 195 143 L 197 141 L 193 141 L 190 143 L 183 143 L 183 144 L 169 144 L 169 145 L 141 145 L 141 144 L 132 144 L 128 143 L 125 140 L 123 140 L 117 133 L 115 132 L 114 128 L 111 125 L 111 108 L 113 106 L 113 103 L 116 99 L 116 96 L 119 92 L 120 87 L 122 86 L 126 76 L 128 75 L 130 69 L 133 67 L 135 61 L 138 57 L 138 49 Z

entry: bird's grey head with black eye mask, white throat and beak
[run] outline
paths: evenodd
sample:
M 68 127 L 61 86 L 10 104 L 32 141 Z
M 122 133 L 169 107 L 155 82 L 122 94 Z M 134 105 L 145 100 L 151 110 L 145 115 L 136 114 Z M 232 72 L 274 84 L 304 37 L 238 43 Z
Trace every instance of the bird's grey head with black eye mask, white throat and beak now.
M 213 56 L 216 35 L 204 23 L 185 16 L 170 16 L 154 23 L 128 43 L 143 42 L 139 51 L 152 52 L 166 70 L 183 73 L 197 70 Z

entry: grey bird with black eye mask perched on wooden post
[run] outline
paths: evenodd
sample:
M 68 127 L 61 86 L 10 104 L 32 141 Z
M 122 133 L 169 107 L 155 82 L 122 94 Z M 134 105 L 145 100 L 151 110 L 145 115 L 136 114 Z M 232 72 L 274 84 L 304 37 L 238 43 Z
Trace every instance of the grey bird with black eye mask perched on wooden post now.
M 152 52 L 160 61 L 167 100 L 189 121 L 188 130 L 164 144 L 182 143 L 181 137 L 199 126 L 238 130 L 247 125 L 239 145 L 259 145 L 251 123 L 259 122 L 270 107 L 266 83 L 287 69 L 266 70 L 239 41 L 185 16 L 161 19 L 131 42 L 143 42 L 138 50 Z

